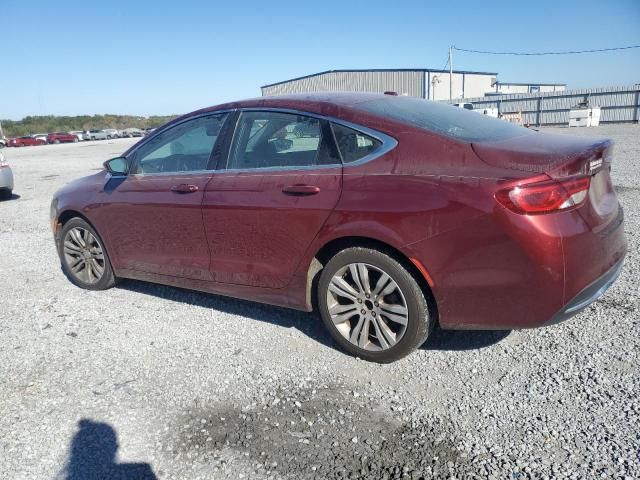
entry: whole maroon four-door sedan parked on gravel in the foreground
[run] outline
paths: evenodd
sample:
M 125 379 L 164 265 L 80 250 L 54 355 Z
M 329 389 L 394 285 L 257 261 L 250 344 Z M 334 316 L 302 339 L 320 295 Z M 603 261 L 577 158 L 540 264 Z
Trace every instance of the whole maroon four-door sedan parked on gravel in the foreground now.
M 297 134 L 304 131 L 304 135 Z M 626 253 L 612 145 L 407 97 L 267 97 L 194 112 L 56 193 L 62 268 L 311 311 L 389 362 L 434 325 L 549 325 Z

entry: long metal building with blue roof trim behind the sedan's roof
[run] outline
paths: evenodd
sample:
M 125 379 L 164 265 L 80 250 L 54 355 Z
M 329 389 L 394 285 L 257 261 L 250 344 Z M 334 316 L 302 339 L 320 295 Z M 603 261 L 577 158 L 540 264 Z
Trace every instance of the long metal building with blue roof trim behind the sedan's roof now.
M 481 97 L 495 90 L 497 73 L 454 70 L 452 98 Z M 449 99 L 449 71 L 432 69 L 328 70 L 264 85 L 262 95 L 319 91 L 397 92 L 398 95 Z

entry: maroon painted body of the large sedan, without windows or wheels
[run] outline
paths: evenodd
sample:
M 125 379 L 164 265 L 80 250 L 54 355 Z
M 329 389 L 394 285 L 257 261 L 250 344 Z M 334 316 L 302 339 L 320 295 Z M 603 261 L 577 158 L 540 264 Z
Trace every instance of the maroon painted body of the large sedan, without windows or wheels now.
M 180 122 L 225 112 L 227 130 L 212 170 L 153 178 L 97 173 L 67 187 L 72 195 L 63 190 L 54 200 L 54 230 L 70 215 L 85 217 L 104 232 L 120 277 L 307 311 L 323 258 L 345 246 L 373 245 L 415 273 L 445 328 L 540 326 L 562 316 L 594 281 L 617 272 L 626 243 L 622 210 L 607 190 L 608 170 L 599 173 L 605 200 L 595 208 L 598 222 L 589 221 L 596 215 L 590 202 L 553 215 L 518 215 L 494 194 L 532 172 L 488 163 L 469 142 L 364 111 L 358 107 L 363 98 L 260 98 L 180 117 L 124 156 L 132 158 Z M 381 147 L 364 161 L 312 170 L 228 169 L 235 122 L 239 112 L 251 111 L 293 112 L 349 126 Z M 573 140 L 564 142 L 570 148 Z M 606 148 L 591 155 L 605 156 Z M 523 155 L 534 151 L 525 144 Z M 198 193 L 171 192 L 182 183 Z M 289 185 L 314 185 L 321 194 L 283 195 Z M 123 217 L 118 205 L 134 204 Z M 584 259 L 591 259 L 588 266 Z

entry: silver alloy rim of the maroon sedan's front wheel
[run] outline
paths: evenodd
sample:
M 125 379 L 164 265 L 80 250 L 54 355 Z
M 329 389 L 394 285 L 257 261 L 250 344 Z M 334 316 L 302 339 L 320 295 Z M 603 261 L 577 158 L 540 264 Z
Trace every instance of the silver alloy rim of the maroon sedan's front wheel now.
M 87 229 L 74 227 L 63 243 L 64 259 L 69 271 L 78 280 L 98 283 L 105 270 L 105 258 L 98 239 Z

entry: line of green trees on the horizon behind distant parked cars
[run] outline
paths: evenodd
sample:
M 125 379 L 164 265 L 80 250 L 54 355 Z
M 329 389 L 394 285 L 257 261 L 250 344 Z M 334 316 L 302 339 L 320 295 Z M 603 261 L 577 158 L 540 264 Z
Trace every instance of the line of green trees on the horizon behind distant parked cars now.
M 177 115 L 136 117 L 134 115 L 78 115 L 64 117 L 55 115 L 29 116 L 22 120 L 0 120 L 6 137 L 21 137 L 36 133 L 70 132 L 99 128 L 155 128 Z

